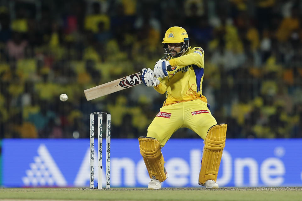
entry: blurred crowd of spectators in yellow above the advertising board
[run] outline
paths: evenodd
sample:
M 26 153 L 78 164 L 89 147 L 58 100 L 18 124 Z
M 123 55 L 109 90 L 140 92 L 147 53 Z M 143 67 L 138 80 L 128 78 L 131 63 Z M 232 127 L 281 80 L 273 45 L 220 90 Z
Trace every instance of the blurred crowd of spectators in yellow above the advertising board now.
M 92 111 L 111 112 L 113 138 L 145 136 L 165 95 L 141 84 L 87 101 L 83 90 L 153 68 L 171 26 L 204 49 L 203 94 L 228 138 L 302 137 L 299 0 L 0 5 L 0 138 L 87 138 Z

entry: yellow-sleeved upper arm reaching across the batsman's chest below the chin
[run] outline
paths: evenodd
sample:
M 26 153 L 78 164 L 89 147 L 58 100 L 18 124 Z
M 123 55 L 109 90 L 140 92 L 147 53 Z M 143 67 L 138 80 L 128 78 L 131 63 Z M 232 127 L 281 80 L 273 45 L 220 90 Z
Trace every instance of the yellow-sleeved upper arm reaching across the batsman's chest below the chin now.
M 198 67 L 204 67 L 204 58 L 197 53 L 187 54 L 178 58 L 169 60 L 171 66 L 188 66 L 195 64 Z

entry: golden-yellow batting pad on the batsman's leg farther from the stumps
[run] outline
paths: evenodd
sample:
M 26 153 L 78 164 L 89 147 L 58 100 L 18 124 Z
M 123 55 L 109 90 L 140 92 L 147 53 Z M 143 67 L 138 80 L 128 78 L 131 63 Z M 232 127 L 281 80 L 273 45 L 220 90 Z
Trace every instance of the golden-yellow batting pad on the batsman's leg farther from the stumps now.
M 204 140 L 204 151 L 201 160 L 198 184 L 208 180 L 216 182 L 223 148 L 226 143 L 226 124 L 212 126 Z

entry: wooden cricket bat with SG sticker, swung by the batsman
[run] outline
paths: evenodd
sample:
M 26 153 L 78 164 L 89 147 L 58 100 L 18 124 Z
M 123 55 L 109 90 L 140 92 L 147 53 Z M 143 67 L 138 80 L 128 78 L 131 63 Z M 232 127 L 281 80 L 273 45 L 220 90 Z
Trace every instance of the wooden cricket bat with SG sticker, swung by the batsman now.
M 167 66 L 168 71 L 171 71 L 171 69 L 171 66 Z M 93 100 L 142 83 L 143 80 L 141 73 L 134 73 L 132 75 L 84 90 L 84 94 L 87 100 Z

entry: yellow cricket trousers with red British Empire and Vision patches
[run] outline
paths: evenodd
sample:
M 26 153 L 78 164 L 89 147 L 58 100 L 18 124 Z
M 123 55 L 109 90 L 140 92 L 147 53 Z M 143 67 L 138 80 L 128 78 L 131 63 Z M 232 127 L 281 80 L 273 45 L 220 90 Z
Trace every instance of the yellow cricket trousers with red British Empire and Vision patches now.
M 196 99 L 180 102 L 160 108 L 148 127 L 147 137 L 157 139 L 163 147 L 179 128 L 189 128 L 205 139 L 209 128 L 216 124 L 204 101 Z

